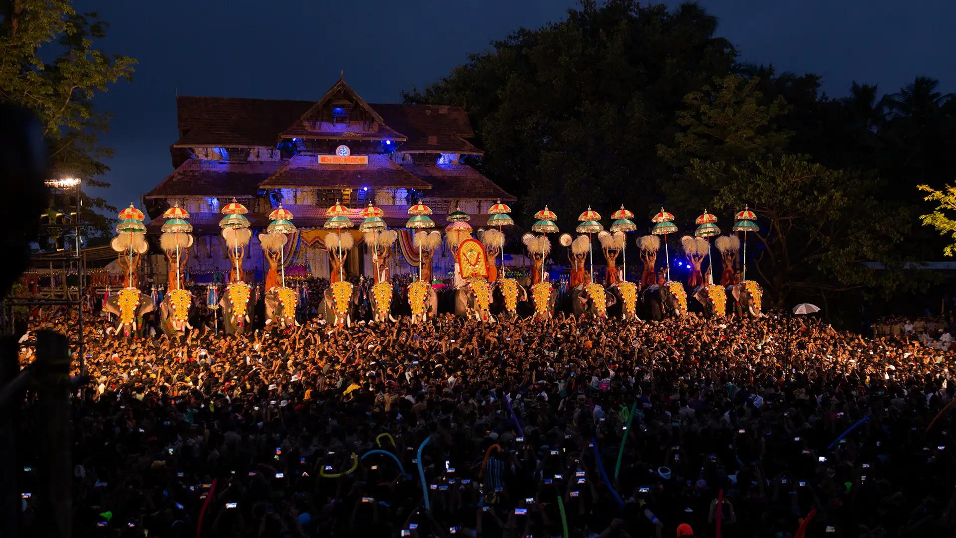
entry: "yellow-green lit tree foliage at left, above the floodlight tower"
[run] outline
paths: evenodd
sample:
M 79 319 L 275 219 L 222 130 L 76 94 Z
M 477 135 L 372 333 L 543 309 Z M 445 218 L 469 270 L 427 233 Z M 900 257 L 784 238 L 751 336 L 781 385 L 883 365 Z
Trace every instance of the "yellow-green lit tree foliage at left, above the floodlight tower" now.
M 94 98 L 120 78 L 131 78 L 136 60 L 97 50 L 95 40 L 108 25 L 96 12 L 77 13 L 71 0 L 8 0 L 0 3 L 0 17 L 0 100 L 37 115 L 55 175 L 109 187 L 96 176 L 109 170 L 103 160 L 113 154 L 98 144 L 111 115 L 95 108 Z M 84 195 L 83 203 L 117 211 L 99 197 Z M 85 216 L 99 232 L 108 230 L 108 217 Z

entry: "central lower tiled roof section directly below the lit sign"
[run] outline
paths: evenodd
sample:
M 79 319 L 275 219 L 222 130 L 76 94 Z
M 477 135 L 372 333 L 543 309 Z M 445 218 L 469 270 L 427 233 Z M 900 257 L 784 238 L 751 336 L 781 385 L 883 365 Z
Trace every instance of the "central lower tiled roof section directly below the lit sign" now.
M 368 156 L 368 165 L 319 165 L 315 157 L 296 155 L 268 179 L 260 189 L 430 189 L 431 186 L 400 167 L 386 155 Z

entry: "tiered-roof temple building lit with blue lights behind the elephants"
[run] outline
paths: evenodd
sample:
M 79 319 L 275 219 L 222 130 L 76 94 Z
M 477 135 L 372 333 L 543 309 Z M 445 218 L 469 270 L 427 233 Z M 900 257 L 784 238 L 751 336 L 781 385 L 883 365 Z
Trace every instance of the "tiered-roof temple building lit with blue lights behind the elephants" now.
M 264 259 L 255 236 L 279 204 L 293 213 L 299 230 L 287 247 L 287 274 L 328 277 L 322 225 L 336 202 L 352 210 L 356 229 L 369 201 L 384 211 L 390 228 L 402 229 L 408 207 L 421 200 L 434 211 L 439 230 L 457 207 L 471 214 L 477 230 L 495 201 L 514 200 L 464 164 L 482 151 L 467 140 L 474 133 L 461 107 L 368 103 L 344 78 L 318 101 L 179 97 L 176 104 L 175 169 L 145 195 L 152 218 L 147 231 L 160 234 L 160 217 L 173 204 L 190 213 L 196 240 L 186 269 L 194 280 L 228 272 L 218 223 L 220 208 L 232 198 L 249 208 L 254 233 L 245 269 L 260 280 Z M 370 251 L 356 229 L 348 271 L 371 275 Z M 392 275 L 413 271 L 410 238 L 400 234 L 394 246 Z M 436 252 L 436 277 L 452 266 L 447 248 Z M 162 283 L 165 271 L 154 269 Z

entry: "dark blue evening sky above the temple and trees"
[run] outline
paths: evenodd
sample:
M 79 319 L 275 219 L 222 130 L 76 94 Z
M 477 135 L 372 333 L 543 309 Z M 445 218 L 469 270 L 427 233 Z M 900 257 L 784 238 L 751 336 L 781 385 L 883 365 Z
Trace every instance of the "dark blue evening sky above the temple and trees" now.
M 669 1 L 676 5 L 679 2 Z M 823 77 L 830 96 L 850 82 L 894 92 L 913 78 L 956 83 L 956 3 L 947 0 L 701 2 L 741 60 Z M 563 18 L 576 0 L 80 0 L 110 23 L 99 47 L 134 56 L 132 82 L 97 98 L 116 115 L 102 137 L 116 149 L 103 194 L 137 201 L 172 170 L 175 96 L 317 100 L 339 70 L 366 101 L 398 101 L 519 27 Z M 145 9 L 144 6 L 148 6 Z M 946 22 L 950 21 L 950 22 Z

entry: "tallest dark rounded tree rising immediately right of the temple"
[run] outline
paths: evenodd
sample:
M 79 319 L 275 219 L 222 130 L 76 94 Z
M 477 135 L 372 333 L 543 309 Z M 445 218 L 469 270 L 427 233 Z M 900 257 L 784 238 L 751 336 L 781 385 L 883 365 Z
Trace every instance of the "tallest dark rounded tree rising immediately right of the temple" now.
M 467 107 L 486 151 L 476 166 L 518 196 L 526 225 L 545 204 L 562 229 L 588 204 L 626 200 L 649 214 L 667 173 L 656 146 L 680 129 L 684 95 L 733 65 L 715 28 L 693 4 L 585 1 L 561 22 L 495 41 L 405 101 Z

